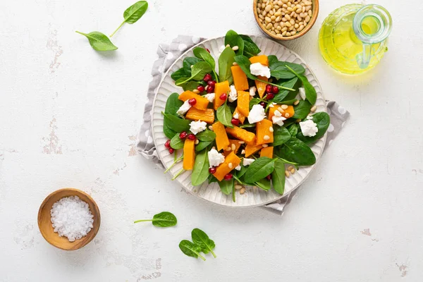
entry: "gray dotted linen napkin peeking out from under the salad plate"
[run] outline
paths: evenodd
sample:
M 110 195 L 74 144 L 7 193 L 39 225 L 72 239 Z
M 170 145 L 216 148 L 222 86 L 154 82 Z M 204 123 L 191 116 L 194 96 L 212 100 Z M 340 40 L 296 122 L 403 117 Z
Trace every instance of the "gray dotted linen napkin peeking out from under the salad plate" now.
M 157 164 L 157 166 L 163 168 L 159 155 L 156 152 L 154 147 L 151 123 L 152 123 L 152 106 L 154 97 L 157 94 L 157 87 L 164 73 L 171 66 L 173 61 L 178 59 L 186 50 L 190 49 L 195 44 L 203 41 L 204 38 L 192 37 L 186 35 L 179 35 L 176 39 L 173 39 L 170 45 L 168 44 L 159 44 L 157 48 L 157 55 L 159 59 L 154 62 L 152 68 L 152 82 L 149 83 L 149 88 L 147 92 L 148 102 L 145 104 L 143 123 L 141 125 L 140 133 L 138 134 L 137 140 L 137 151 L 146 159 L 149 159 Z M 328 136 L 326 139 L 326 148 L 331 145 L 333 139 L 341 131 L 341 128 L 345 125 L 345 122 L 348 120 L 350 113 L 346 111 L 342 106 L 338 105 L 336 102 L 328 102 L 328 114 L 331 116 L 331 125 L 328 128 Z M 286 205 L 295 197 L 295 193 L 298 189 L 290 192 L 288 195 L 285 195 L 280 200 L 273 202 L 271 204 L 266 204 L 264 208 L 268 209 L 271 212 L 282 215 L 283 210 Z

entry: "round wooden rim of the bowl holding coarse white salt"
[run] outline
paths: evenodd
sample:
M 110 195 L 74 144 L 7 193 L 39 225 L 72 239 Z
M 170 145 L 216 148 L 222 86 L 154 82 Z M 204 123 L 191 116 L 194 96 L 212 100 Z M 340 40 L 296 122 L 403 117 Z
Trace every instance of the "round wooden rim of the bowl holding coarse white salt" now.
M 87 236 L 85 236 L 85 237 L 83 237 L 83 238 L 81 238 L 79 240 L 75 240 L 74 242 L 72 242 L 72 243 L 80 242 L 80 240 L 84 240 L 84 238 L 85 238 L 84 243 L 82 245 L 80 245 L 78 248 L 66 248 L 66 247 L 62 247 L 61 245 L 54 244 L 53 242 L 51 242 L 49 240 L 49 238 L 47 238 L 47 234 L 44 233 L 44 228 L 42 228 L 42 225 L 41 225 L 42 212 L 43 212 L 43 210 L 44 210 L 47 202 L 49 202 L 50 198 L 53 197 L 54 195 L 59 194 L 60 192 L 64 192 L 64 191 L 66 191 L 66 192 L 73 192 L 73 193 L 75 193 L 74 196 L 78 196 L 79 197 L 78 194 L 80 194 L 80 195 L 84 195 L 85 197 L 87 197 L 88 200 L 90 200 L 90 202 L 92 203 L 92 205 L 94 207 L 94 211 L 91 211 L 92 215 L 94 217 L 95 217 L 95 214 L 98 215 L 98 220 L 97 221 L 94 221 L 93 227 L 92 227 L 92 229 L 90 231 L 90 233 L 93 232 L 92 237 L 90 236 L 90 238 L 87 238 L 87 236 L 88 236 L 87 235 Z M 66 196 L 66 197 L 69 197 L 69 196 Z M 87 245 L 88 243 L 90 243 L 92 241 L 92 239 L 94 239 L 95 236 L 97 235 L 97 233 L 99 232 L 99 228 L 100 228 L 100 224 L 101 224 L 102 219 L 101 219 L 101 216 L 100 216 L 99 207 L 97 206 L 97 203 L 94 201 L 94 199 L 92 199 L 92 197 L 90 195 L 88 195 L 86 192 L 81 191 L 81 190 L 76 189 L 76 188 L 61 188 L 59 190 L 56 190 L 54 192 L 51 192 L 49 195 L 47 195 L 47 197 L 45 197 L 44 201 L 42 201 L 42 203 L 41 203 L 41 205 L 39 206 L 39 209 L 38 209 L 37 221 L 38 221 L 39 232 L 41 233 L 42 237 L 47 241 L 47 243 L 49 243 L 50 245 L 52 245 L 54 247 L 57 247 L 57 248 L 59 248 L 61 250 L 68 251 L 68 250 L 79 250 L 80 248 L 85 247 L 85 245 Z M 90 234 L 90 233 L 88 233 L 88 234 Z M 56 234 L 59 236 L 59 233 L 56 233 Z

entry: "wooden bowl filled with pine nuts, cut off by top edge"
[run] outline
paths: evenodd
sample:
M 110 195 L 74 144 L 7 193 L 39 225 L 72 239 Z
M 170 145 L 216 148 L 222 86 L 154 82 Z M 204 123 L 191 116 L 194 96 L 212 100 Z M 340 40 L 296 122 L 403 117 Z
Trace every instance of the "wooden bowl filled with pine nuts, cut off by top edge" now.
M 252 5 L 259 27 L 277 40 L 302 37 L 319 14 L 319 0 L 253 0 Z

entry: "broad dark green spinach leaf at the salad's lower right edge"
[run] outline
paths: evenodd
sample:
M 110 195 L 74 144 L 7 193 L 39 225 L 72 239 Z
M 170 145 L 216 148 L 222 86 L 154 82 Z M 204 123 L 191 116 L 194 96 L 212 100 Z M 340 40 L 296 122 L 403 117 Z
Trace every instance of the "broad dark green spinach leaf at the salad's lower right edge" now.
M 316 163 L 316 157 L 305 142 L 291 137 L 290 140 L 285 142 L 280 147 L 277 147 L 276 156 L 292 161 L 299 166 L 312 166 Z M 252 163 L 254 164 L 254 163 Z

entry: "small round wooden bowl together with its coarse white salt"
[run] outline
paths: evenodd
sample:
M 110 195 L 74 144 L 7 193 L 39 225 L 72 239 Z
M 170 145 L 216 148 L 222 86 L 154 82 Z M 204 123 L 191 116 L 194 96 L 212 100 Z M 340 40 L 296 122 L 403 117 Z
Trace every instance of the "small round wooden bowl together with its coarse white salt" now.
M 85 203 L 88 204 L 89 212 Z M 52 221 L 56 224 L 56 229 L 60 229 L 58 232 L 62 233 L 62 236 L 54 231 Z M 54 247 L 62 250 L 78 250 L 90 243 L 99 231 L 99 207 L 87 193 L 75 188 L 63 188 L 52 192 L 42 202 L 38 211 L 38 227 L 42 237 Z M 85 235 L 87 230 L 90 231 Z

